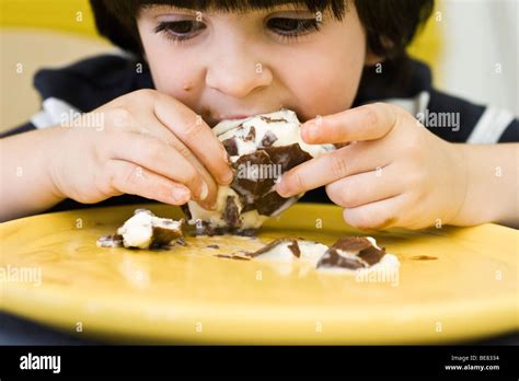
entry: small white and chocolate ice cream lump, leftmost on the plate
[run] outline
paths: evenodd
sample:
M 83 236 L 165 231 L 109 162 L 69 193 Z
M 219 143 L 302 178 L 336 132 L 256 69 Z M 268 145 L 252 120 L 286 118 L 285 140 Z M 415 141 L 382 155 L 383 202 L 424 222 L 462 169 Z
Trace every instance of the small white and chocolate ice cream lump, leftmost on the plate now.
M 160 218 L 147 209 L 137 209 L 114 235 L 104 235 L 97 240 L 102 247 L 150 249 L 169 245 L 173 240 L 182 239 L 182 226 L 178 221 Z

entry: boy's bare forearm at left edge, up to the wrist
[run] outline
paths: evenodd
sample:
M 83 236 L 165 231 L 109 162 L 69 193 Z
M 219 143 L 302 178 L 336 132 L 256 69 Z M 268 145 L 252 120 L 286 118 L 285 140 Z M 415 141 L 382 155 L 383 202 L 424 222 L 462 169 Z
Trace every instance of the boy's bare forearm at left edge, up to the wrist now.
M 0 221 L 43 211 L 64 199 L 50 174 L 59 132 L 48 128 L 0 139 Z

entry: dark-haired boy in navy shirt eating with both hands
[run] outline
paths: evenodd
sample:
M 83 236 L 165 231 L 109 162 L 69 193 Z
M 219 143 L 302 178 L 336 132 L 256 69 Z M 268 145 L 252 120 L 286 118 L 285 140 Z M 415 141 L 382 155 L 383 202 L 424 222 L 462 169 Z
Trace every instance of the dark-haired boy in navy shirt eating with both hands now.
M 338 149 L 284 174 L 281 196 L 327 195 L 360 229 L 518 223 L 518 145 L 495 145 L 517 119 L 437 92 L 405 55 L 432 0 L 91 3 L 131 56 L 36 76 L 44 111 L 0 140 L 2 220 L 123 194 L 211 208 L 232 172 L 210 128 L 285 107 Z M 62 128 L 71 107 L 85 114 Z M 446 113 L 448 128 L 423 117 Z

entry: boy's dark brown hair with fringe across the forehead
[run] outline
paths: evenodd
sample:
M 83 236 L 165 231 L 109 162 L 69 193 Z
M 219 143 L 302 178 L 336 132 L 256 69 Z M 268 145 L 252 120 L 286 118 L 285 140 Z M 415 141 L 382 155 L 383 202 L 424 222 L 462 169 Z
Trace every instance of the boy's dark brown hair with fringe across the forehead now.
M 305 5 L 311 12 L 330 10 L 335 19 L 342 20 L 348 1 L 351 0 L 90 0 L 90 3 L 99 33 L 139 56 L 142 48 L 136 18 L 142 7 L 172 4 L 200 12 L 246 12 L 293 3 Z M 355 5 L 369 48 L 391 60 L 405 56 L 405 47 L 432 12 L 434 0 L 355 0 Z

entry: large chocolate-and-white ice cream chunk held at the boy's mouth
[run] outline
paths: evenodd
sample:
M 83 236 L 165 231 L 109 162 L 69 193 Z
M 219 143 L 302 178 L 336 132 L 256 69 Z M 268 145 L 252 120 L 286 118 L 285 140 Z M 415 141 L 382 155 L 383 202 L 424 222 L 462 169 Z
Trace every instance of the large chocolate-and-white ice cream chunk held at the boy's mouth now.
M 280 175 L 335 149 L 333 145 L 307 145 L 301 124 L 290 109 L 222 120 L 212 131 L 226 148 L 234 180 L 219 187 L 215 210 L 193 200 L 183 207 L 198 234 L 246 234 L 260 228 L 302 196 L 279 196 L 274 186 Z

